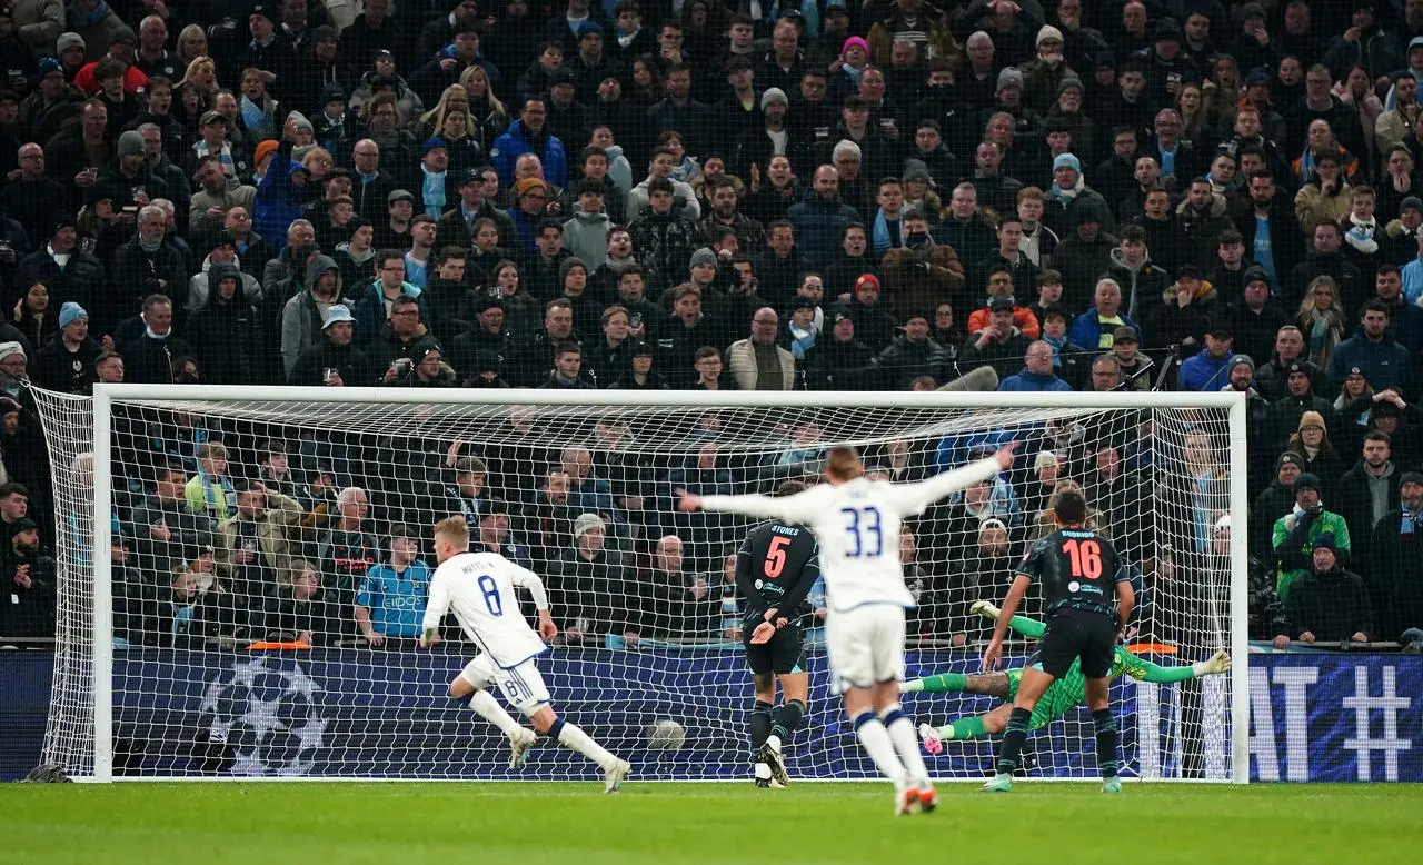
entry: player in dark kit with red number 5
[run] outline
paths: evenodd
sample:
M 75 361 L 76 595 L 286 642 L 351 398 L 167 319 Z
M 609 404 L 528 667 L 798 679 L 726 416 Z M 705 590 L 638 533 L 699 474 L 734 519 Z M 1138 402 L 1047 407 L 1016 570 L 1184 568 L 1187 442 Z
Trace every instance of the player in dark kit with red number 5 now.
M 787 481 L 777 495 L 805 489 Z M 751 751 L 756 753 L 756 785 L 790 782 L 781 747 L 805 720 L 810 677 L 805 673 L 805 640 L 801 620 L 810 615 L 805 596 L 820 578 L 815 535 L 798 525 L 766 522 L 751 529 L 736 553 L 736 586 L 746 619 L 741 642 L 756 681 L 751 709 Z M 781 707 L 776 710 L 776 681 Z

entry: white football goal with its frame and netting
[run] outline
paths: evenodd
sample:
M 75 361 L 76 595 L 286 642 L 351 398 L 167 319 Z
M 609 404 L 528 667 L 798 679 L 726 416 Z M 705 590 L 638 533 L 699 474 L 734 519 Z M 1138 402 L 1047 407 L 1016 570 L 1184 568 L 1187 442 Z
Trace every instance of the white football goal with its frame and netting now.
M 1127 647 L 1161 666 L 1227 649 L 1228 676 L 1123 676 L 1126 777 L 1247 782 L 1245 403 L 1228 393 L 693 393 L 95 386 L 34 391 L 54 474 L 58 609 L 44 761 L 84 781 L 592 780 L 448 699 L 477 653 L 413 644 L 430 529 L 538 572 L 561 635 L 554 706 L 635 780 L 746 780 L 751 679 L 729 556 L 754 525 L 684 515 L 672 491 L 814 482 L 824 451 L 912 481 L 1020 441 L 1012 472 L 931 506 L 901 552 L 918 607 L 909 674 L 976 672 L 988 622 L 1077 484 L 1127 562 Z M 1234 526 L 1234 534 L 1224 531 Z M 811 607 L 821 595 L 811 593 Z M 1030 593 L 1025 615 L 1040 616 Z M 524 613 L 529 613 L 525 609 Z M 794 780 L 874 777 L 804 622 L 811 700 Z M 1019 666 L 1030 643 L 1010 646 Z M 916 721 L 988 711 L 911 694 Z M 980 780 L 996 740 L 946 743 L 935 777 Z M 1093 778 L 1070 710 L 1025 751 L 1035 778 Z

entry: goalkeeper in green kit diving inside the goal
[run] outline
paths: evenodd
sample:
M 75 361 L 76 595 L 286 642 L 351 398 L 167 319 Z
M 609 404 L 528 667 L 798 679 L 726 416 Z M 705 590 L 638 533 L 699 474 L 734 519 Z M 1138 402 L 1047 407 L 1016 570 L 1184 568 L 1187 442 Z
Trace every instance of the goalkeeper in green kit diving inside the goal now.
M 988 619 L 998 619 L 998 607 L 986 600 L 979 600 L 973 605 L 972 610 Z M 1015 632 L 1023 635 L 1025 637 L 1042 637 L 1047 632 L 1047 626 L 1042 622 L 1036 622 L 1026 616 L 1013 616 L 1009 622 L 1009 627 Z M 1030 730 L 1040 730 L 1046 727 L 1053 718 L 1059 718 L 1067 714 L 1069 710 L 1077 706 L 1086 706 L 1086 680 L 1081 676 L 1080 660 L 1073 662 L 1067 674 L 1052 683 L 1043 693 L 1042 700 L 1037 701 L 1037 707 L 1033 709 L 1033 718 L 1029 726 Z M 1133 679 L 1140 679 L 1146 681 L 1187 681 L 1190 679 L 1200 679 L 1201 676 L 1212 676 L 1217 673 L 1225 673 L 1231 669 L 1231 656 L 1225 650 L 1217 652 L 1210 660 L 1197 662 L 1194 664 L 1181 667 L 1161 667 L 1148 660 L 1143 660 L 1136 654 L 1131 654 L 1121 646 L 1117 646 L 1116 657 L 1111 662 L 1111 672 L 1109 677 L 1116 679 L 1126 673 Z M 966 693 L 966 694 L 986 694 L 989 697 L 998 697 L 1005 703 L 978 717 L 958 718 L 949 721 L 942 727 L 931 727 L 929 724 L 919 724 L 919 738 L 924 741 L 924 750 L 931 754 L 939 754 L 943 751 L 943 740 L 946 738 L 978 738 L 980 736 L 989 736 L 993 733 L 1002 733 L 1007 726 L 1007 716 L 1013 711 L 1013 697 L 1017 693 L 1017 683 L 1022 679 L 1022 667 L 1013 670 L 1000 670 L 995 673 L 943 673 L 942 676 L 929 676 L 926 679 L 915 679 L 912 681 L 904 683 L 905 691 L 924 691 L 924 693 Z

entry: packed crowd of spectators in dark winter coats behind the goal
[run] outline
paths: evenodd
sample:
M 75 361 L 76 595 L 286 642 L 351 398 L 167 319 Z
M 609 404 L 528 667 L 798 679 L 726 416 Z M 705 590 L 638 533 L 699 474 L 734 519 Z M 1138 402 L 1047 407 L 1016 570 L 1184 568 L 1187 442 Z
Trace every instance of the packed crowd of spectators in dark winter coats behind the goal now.
M 0 635 L 54 629 L 27 381 L 1234 390 L 1252 636 L 1423 627 L 1423 0 L 16 0 L 0 60 Z M 549 573 L 565 639 L 720 639 L 739 538 L 670 489 L 820 455 L 115 423 L 118 629 L 164 644 L 408 639 L 448 512 Z M 919 632 L 979 639 L 1069 482 L 1143 627 L 1201 627 L 1225 447 L 1039 430 L 906 535 Z

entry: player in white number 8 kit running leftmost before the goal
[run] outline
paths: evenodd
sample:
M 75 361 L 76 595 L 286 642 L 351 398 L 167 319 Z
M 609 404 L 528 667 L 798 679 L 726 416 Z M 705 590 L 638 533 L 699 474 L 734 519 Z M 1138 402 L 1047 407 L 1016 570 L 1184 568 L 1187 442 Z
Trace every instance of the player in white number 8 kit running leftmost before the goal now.
M 536 741 L 534 730 L 558 744 L 578 751 L 603 770 L 603 788 L 618 787 L 632 774 L 626 760 L 619 760 L 576 726 L 554 714 L 548 704 L 548 686 L 534 659 L 548 650 L 544 640 L 558 636 L 558 626 L 548 610 L 544 580 L 527 568 L 494 552 L 467 552 L 470 524 L 464 516 L 450 516 L 435 524 L 435 561 L 440 566 L 430 579 L 430 603 L 420 635 L 421 647 L 434 644 L 440 622 L 454 609 L 465 636 L 480 646 L 475 656 L 454 681 L 450 696 L 470 697 L 470 709 L 509 737 L 509 768 L 524 764 Z M 519 612 L 514 586 L 528 589 L 538 607 L 538 633 Z M 499 686 L 504 699 L 534 723 L 534 730 L 519 726 L 485 690 Z

